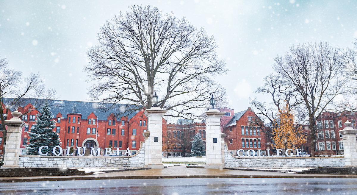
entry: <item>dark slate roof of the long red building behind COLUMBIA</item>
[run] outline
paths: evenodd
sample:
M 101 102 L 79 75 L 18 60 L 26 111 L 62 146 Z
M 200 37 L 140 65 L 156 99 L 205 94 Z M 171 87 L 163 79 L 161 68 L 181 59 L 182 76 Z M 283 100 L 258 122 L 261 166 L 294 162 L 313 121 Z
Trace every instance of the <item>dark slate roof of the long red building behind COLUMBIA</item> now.
M 11 98 L 4 98 L 4 102 L 6 104 L 7 101 L 12 100 Z M 16 105 L 13 109 L 15 111 L 17 106 L 26 106 L 27 104 L 33 102 L 35 99 L 32 98 L 22 98 L 20 103 Z M 67 114 L 76 113 L 81 114 L 81 119 L 87 119 L 87 116 L 93 112 L 98 120 L 107 120 L 107 117 L 113 113 L 119 115 L 120 110 L 122 110 L 122 114 L 120 116 L 128 116 L 131 119 L 137 112 L 134 111 L 129 113 L 127 107 L 134 107 L 135 105 L 127 105 L 127 104 L 103 104 L 99 102 L 89 102 L 89 101 L 68 101 L 68 100 L 48 100 L 48 103 L 51 107 L 52 114 L 56 116 L 59 112 L 62 114 L 62 117 L 67 118 Z M 101 105 L 101 106 L 100 106 Z M 103 106 L 104 105 L 104 106 Z M 107 107 L 108 109 L 105 109 Z M 38 109 L 41 110 L 41 107 Z

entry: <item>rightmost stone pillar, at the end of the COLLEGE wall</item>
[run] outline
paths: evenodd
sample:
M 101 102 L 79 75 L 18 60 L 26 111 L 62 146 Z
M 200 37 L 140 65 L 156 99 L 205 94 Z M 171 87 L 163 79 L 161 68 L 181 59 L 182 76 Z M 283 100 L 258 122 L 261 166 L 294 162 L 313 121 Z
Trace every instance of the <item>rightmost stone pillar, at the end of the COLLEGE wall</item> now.
M 352 123 L 346 121 L 343 123 L 346 127 L 338 131 L 342 134 L 343 154 L 345 155 L 345 166 L 357 166 L 357 130 L 351 127 Z

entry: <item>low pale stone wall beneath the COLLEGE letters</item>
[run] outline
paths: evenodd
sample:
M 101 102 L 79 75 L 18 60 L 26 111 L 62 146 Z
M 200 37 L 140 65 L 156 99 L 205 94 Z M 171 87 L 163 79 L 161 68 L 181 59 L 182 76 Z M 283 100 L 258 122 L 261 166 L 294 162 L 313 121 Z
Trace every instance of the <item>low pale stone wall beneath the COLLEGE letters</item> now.
M 236 157 L 230 154 L 225 144 L 226 167 L 342 167 L 343 156 L 332 157 Z

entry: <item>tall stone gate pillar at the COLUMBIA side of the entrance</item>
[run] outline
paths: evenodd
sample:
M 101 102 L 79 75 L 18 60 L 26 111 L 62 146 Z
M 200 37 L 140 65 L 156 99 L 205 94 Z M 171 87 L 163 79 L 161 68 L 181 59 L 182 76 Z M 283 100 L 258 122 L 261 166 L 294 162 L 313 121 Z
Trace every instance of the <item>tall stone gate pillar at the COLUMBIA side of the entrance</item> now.
M 150 132 L 147 167 L 151 167 L 151 169 L 164 169 L 164 164 L 162 164 L 162 116 L 166 111 L 160 107 L 151 107 L 144 112 L 148 121 L 147 129 Z

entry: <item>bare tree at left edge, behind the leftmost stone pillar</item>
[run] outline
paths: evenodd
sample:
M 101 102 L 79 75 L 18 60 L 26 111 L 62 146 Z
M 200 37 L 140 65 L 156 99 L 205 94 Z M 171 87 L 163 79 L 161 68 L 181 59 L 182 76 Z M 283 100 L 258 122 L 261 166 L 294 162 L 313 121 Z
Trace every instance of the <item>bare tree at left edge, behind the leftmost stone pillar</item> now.
M 7 133 L 4 116 L 9 114 L 10 109 L 16 108 L 26 97 L 33 98 L 32 105 L 34 107 L 22 113 L 22 115 L 25 115 L 31 110 L 37 109 L 47 99 L 56 95 L 56 91 L 54 89 L 45 88 L 39 74 L 31 73 L 29 77 L 24 79 L 25 85 L 21 86 L 23 82 L 22 72 L 9 69 L 7 66 L 8 63 L 9 62 L 6 58 L 0 58 L 0 118 L 3 134 L 2 154 L 5 154 Z M 20 117 L 22 117 L 22 115 Z M 2 156 L 2 160 L 4 160 L 4 155 Z

